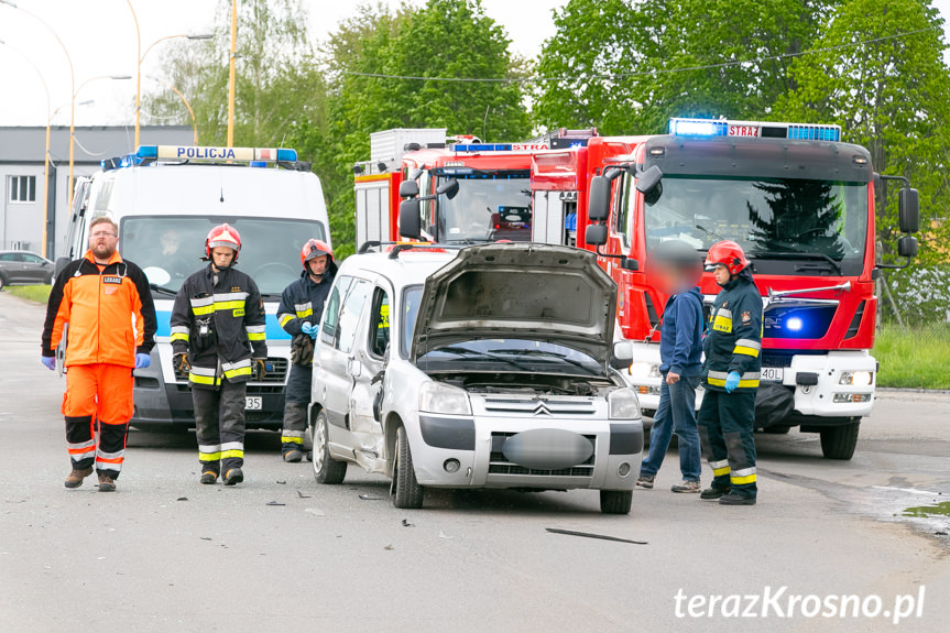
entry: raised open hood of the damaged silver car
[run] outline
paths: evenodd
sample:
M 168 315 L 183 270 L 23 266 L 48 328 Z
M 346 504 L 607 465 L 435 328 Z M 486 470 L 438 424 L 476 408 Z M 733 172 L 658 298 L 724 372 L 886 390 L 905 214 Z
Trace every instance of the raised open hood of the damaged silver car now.
M 426 280 L 412 362 L 474 339 L 563 345 L 608 364 L 616 284 L 597 255 L 571 247 L 525 242 L 461 249 Z

